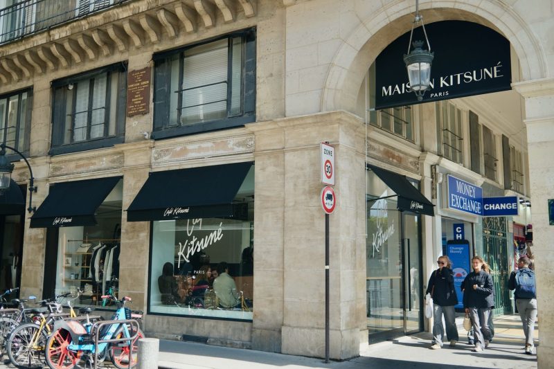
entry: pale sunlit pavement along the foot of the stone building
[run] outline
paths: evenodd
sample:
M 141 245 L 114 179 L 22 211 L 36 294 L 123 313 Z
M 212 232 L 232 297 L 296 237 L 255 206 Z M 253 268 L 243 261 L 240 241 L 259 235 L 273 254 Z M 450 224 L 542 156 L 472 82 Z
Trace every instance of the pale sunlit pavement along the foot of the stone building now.
M 495 318 L 494 330 L 493 342 L 488 350 L 479 354 L 472 352 L 472 347 L 467 345 L 466 331 L 462 328 L 459 331 L 461 341 L 455 348 L 445 347 L 441 350 L 429 350 L 431 335 L 424 332 L 368 346 L 360 357 L 348 361 L 332 361 L 329 364 L 325 364 L 321 359 L 162 340 L 160 341 L 159 368 L 537 368 L 536 356 L 524 354 L 524 334 L 521 330 L 519 316 Z M 535 337 L 537 337 L 537 333 L 535 330 Z M 13 366 L 0 365 L 0 368 L 13 368 Z

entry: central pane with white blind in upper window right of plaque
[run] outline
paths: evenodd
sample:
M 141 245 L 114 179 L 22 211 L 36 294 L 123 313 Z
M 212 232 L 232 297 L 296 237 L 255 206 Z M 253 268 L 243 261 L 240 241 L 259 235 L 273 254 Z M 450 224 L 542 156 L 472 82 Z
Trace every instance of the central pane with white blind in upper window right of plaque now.
M 185 52 L 181 124 L 227 115 L 227 39 Z

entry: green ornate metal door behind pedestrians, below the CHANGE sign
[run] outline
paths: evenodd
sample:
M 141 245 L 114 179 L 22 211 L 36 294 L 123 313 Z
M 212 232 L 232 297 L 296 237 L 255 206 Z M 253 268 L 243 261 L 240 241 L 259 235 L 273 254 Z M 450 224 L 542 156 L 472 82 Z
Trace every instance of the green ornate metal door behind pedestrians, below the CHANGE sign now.
M 512 312 L 508 290 L 508 246 L 506 217 L 483 217 L 483 257 L 490 266 L 494 283 L 494 314 Z

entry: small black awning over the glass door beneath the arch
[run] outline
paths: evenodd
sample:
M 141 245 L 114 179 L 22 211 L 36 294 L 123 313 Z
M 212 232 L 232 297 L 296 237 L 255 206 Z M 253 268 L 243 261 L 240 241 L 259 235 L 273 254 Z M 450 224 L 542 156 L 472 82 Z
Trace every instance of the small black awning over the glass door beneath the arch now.
M 435 211 L 431 201 L 425 198 L 422 193 L 415 188 L 406 176 L 393 173 L 389 170 L 376 167 L 375 165 L 367 165 L 367 168 L 373 170 L 386 186 L 393 190 L 397 197 L 397 208 L 400 211 L 409 211 L 423 215 L 431 215 L 434 217 Z

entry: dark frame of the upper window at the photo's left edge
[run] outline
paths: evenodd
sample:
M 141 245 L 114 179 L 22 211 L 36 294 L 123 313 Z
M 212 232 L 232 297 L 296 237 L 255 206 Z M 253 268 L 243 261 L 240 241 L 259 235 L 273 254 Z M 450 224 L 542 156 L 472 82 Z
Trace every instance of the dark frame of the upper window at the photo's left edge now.
M 24 93 L 27 93 L 27 101 L 26 101 L 26 111 L 25 111 L 25 121 L 21 122 L 21 96 L 23 96 Z M 5 141 L 7 138 L 6 130 L 8 127 L 8 114 L 10 113 L 9 109 L 9 102 L 10 98 L 17 96 L 17 117 L 16 117 L 16 125 L 15 125 L 15 143 L 11 143 L 11 141 Z M 6 111 L 4 112 L 4 126 L 0 127 L 0 137 L 3 139 L 0 139 L 1 143 L 6 143 L 6 145 L 14 147 L 17 149 L 17 151 L 21 152 L 21 154 L 24 154 L 28 156 L 29 149 L 30 149 L 30 123 L 32 119 L 33 114 L 33 88 L 28 87 L 26 89 L 20 89 L 17 91 L 10 91 L 9 93 L 3 93 L 0 95 L 0 100 L 6 99 Z M 19 133 L 21 130 L 21 123 L 25 125 L 24 127 L 24 138 L 23 138 L 23 147 L 19 147 Z M 6 158 L 8 161 L 19 161 L 21 157 L 16 154 L 15 152 L 6 152 Z

